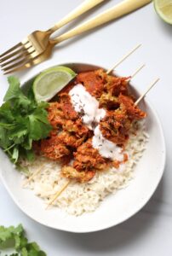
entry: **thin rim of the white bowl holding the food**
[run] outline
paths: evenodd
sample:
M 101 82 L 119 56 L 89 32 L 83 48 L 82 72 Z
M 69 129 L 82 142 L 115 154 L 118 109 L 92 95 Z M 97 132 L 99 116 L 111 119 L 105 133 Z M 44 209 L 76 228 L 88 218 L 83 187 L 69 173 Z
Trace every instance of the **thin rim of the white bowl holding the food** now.
M 46 69 L 48 69 L 48 68 L 55 67 L 55 66 L 67 66 L 67 65 L 72 65 L 72 64 L 73 64 L 73 65 L 77 65 L 77 66 L 78 66 L 78 65 L 83 65 L 83 66 L 84 66 L 84 65 L 87 65 L 87 66 L 89 66 L 89 67 L 103 68 L 104 70 L 107 70 L 106 67 L 102 67 L 102 66 L 100 66 L 100 65 L 98 65 L 98 64 L 92 64 L 92 63 L 86 62 L 86 61 L 84 61 L 84 62 L 80 62 L 80 61 L 78 61 L 78 62 L 77 62 L 77 61 L 65 61 L 65 62 L 63 62 L 63 61 L 59 61 L 59 62 L 57 62 L 55 65 L 50 65 L 49 67 L 43 68 L 41 71 L 37 71 L 36 73 L 33 73 L 32 76 L 30 76 L 30 78 L 28 78 L 28 76 L 26 75 L 26 78 L 23 79 L 23 81 L 22 81 L 21 87 L 23 87 L 29 80 L 34 79 L 34 77 L 37 76 L 38 73 L 42 73 L 44 70 L 46 70 Z M 90 70 L 91 70 L 91 69 L 90 69 Z M 116 72 L 116 71 L 113 71 L 112 74 L 116 74 L 117 76 L 122 76 L 122 75 L 120 75 L 120 73 L 118 73 L 118 72 Z M 135 83 L 129 82 L 129 85 L 131 86 L 131 88 L 133 88 L 133 89 L 135 90 L 136 93 L 140 94 L 140 90 L 135 89 Z M 149 102 L 147 99 L 145 99 L 145 98 L 144 98 L 144 102 L 146 102 L 146 105 L 148 106 L 148 108 L 151 109 L 151 111 L 152 111 L 152 113 L 153 113 L 155 119 L 156 119 L 157 122 L 158 122 L 158 127 L 159 127 L 159 131 L 160 131 L 160 136 L 161 136 L 161 138 L 162 138 L 162 146 L 163 146 L 163 148 L 162 148 L 162 150 L 163 150 L 163 151 L 162 151 L 162 152 L 163 152 L 163 154 L 162 154 L 162 165 L 161 165 L 161 169 L 159 170 L 158 181 L 157 181 L 157 183 L 155 183 L 155 185 L 154 185 L 154 187 L 153 187 L 153 189 L 152 189 L 152 193 L 150 193 L 149 195 L 147 195 L 146 198 L 145 198 L 145 200 L 142 201 L 142 203 L 139 205 L 139 207 L 136 207 L 136 210 L 131 211 L 131 212 L 129 213 L 128 217 L 123 217 L 123 218 L 121 218 L 120 221 L 118 222 L 118 224 L 121 224 L 121 223 L 123 223 L 124 221 L 128 220 L 129 218 L 131 218 L 132 216 L 134 216 L 137 212 L 140 211 L 140 209 L 141 209 L 142 207 L 144 207 L 144 206 L 146 205 L 146 203 L 151 199 L 152 195 L 154 194 L 154 192 L 155 192 L 156 189 L 158 188 L 158 184 L 160 183 L 160 181 L 161 181 L 161 179 L 162 179 L 162 177 L 163 177 L 163 172 L 164 172 L 164 169 L 165 169 L 165 164 L 166 164 L 166 147 L 165 147 L 165 139 L 164 139 L 164 135 L 163 135 L 163 127 L 162 127 L 162 125 L 161 125 L 161 122 L 160 122 L 160 119 L 159 119 L 159 117 L 158 117 L 157 111 L 152 107 L 152 103 L 150 104 L 150 102 Z M 0 148 L 0 149 L 1 149 L 1 148 Z M 1 149 L 1 150 L 2 150 L 2 149 Z M 45 224 L 45 223 L 43 223 L 42 221 L 38 220 L 37 218 L 34 218 L 33 216 L 29 215 L 29 213 L 27 213 L 27 212 L 25 211 L 25 209 L 23 209 L 23 208 L 21 207 L 19 201 L 16 201 L 16 199 L 15 199 L 13 193 L 11 192 L 11 190 L 9 189 L 9 186 L 7 185 L 7 183 L 5 182 L 5 180 L 4 180 L 4 178 L 3 178 L 2 172 L 0 172 L 0 178 L 1 178 L 1 180 L 3 181 L 3 185 L 4 185 L 4 187 L 7 189 L 8 193 L 9 193 L 9 195 L 11 196 L 11 198 L 13 199 L 14 203 L 20 208 L 20 210 L 21 210 L 22 212 L 24 212 L 29 218 L 32 218 L 32 219 L 33 219 L 34 221 L 36 221 L 37 223 L 43 224 L 44 226 L 47 226 L 47 227 L 52 228 L 52 229 L 54 229 L 54 230 L 62 230 L 62 231 L 66 231 L 66 232 L 80 233 L 80 234 L 81 234 L 81 233 L 92 233 L 92 232 L 96 232 L 96 231 L 100 231 L 100 230 L 106 230 L 106 229 L 109 229 L 109 228 L 111 228 L 111 227 L 113 227 L 113 226 L 115 226 L 115 225 L 118 225 L 118 224 L 108 224 L 108 225 L 107 225 L 107 224 L 106 224 L 106 225 L 101 224 L 100 228 L 96 228 L 96 229 L 89 229 L 89 230 L 86 230 L 86 229 L 85 229 L 85 230 L 68 229 L 68 230 L 67 230 L 67 229 L 62 229 L 62 228 L 56 228 L 56 227 L 54 227 L 52 224 L 48 224 L 48 223 Z M 35 195 L 35 196 L 36 196 L 36 195 Z M 96 209 L 95 209 L 95 211 L 96 211 Z

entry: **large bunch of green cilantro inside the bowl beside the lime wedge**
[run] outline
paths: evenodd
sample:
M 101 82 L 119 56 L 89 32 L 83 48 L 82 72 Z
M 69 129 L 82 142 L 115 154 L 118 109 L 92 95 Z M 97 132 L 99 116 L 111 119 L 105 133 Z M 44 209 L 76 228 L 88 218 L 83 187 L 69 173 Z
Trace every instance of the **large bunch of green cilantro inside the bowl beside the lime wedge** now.
M 9 77 L 9 90 L 0 108 L 0 147 L 17 163 L 20 155 L 34 158 L 32 142 L 49 136 L 47 102 L 37 102 L 30 90 L 27 95 L 20 89 L 20 81 Z

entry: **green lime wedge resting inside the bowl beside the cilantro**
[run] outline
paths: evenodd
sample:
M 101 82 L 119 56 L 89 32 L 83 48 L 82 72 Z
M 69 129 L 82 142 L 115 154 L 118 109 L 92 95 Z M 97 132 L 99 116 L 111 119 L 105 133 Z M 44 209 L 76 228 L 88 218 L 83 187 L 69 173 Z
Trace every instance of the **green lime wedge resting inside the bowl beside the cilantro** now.
M 68 84 L 76 73 L 69 67 L 51 67 L 40 73 L 33 83 L 37 102 L 47 102 Z

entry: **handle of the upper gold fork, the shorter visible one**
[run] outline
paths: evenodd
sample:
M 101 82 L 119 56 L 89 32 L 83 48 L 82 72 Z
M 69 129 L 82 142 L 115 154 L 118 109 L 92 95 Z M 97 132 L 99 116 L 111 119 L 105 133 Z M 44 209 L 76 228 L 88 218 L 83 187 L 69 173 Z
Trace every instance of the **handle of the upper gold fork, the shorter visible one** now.
M 49 32 L 53 33 L 58 30 L 60 27 L 65 26 L 70 21 L 76 19 L 78 16 L 83 15 L 83 13 L 87 12 L 89 9 L 94 8 L 101 2 L 106 0 L 85 0 L 81 3 L 76 9 L 74 9 L 69 15 L 66 15 L 62 20 L 57 22 L 52 28 L 49 29 Z

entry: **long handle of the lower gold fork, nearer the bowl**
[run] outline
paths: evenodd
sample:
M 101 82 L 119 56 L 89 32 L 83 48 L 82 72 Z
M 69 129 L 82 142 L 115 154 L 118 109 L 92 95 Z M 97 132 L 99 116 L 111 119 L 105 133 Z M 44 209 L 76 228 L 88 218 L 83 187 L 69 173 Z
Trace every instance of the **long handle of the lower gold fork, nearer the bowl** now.
M 84 22 L 82 25 L 73 28 L 69 32 L 62 34 L 57 38 L 54 38 L 54 40 L 52 40 L 51 43 L 58 44 L 62 41 L 65 41 L 66 39 L 73 38 L 83 32 L 87 32 L 90 29 L 95 28 L 96 26 L 105 24 L 110 20 L 114 20 L 123 15 L 127 15 L 135 9 L 139 9 L 140 7 L 151 2 L 152 0 L 124 0 L 122 3 L 118 3 L 111 9 L 107 9 L 100 15 L 95 16 L 95 18 Z

